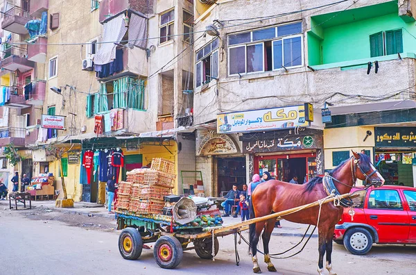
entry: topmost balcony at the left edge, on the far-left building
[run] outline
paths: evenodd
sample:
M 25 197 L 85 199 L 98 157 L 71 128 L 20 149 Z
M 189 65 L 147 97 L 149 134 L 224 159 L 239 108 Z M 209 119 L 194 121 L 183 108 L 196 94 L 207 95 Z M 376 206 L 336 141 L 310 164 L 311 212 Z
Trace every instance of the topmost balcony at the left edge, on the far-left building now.
M 3 22 L 1 22 L 1 28 L 10 33 L 17 33 L 19 35 L 28 34 L 28 30 L 24 25 L 29 21 L 30 16 L 28 10 L 23 10 L 20 7 L 13 7 L 4 13 Z

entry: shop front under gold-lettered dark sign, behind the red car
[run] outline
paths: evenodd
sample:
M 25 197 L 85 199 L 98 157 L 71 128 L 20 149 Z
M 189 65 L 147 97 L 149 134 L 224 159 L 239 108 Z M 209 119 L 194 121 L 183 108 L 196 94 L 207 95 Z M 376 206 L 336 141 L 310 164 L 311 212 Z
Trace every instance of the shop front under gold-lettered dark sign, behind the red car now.
M 374 163 L 385 184 L 416 186 L 416 127 L 376 127 Z

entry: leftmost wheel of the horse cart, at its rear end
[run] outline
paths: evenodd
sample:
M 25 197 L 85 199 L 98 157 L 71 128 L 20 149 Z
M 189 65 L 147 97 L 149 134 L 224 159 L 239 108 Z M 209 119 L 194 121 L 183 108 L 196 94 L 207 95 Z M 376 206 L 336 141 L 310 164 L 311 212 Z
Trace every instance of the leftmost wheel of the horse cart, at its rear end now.
M 119 237 L 119 251 L 126 260 L 137 260 L 143 249 L 143 240 L 135 228 L 125 228 Z

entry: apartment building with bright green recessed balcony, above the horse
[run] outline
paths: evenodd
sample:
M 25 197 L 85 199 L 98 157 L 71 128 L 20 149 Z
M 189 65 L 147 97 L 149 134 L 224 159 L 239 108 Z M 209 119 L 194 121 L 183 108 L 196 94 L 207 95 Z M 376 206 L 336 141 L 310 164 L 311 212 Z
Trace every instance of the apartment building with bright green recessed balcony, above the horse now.
M 195 1 L 196 166 L 209 192 L 263 172 L 303 183 L 352 149 L 388 183 L 416 185 L 415 4 Z

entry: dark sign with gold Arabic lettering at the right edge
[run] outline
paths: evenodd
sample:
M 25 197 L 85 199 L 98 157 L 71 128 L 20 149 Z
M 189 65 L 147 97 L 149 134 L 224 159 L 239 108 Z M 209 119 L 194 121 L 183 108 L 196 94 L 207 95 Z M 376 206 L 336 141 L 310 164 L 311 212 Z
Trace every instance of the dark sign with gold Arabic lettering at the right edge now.
M 376 127 L 376 147 L 416 147 L 415 127 Z

